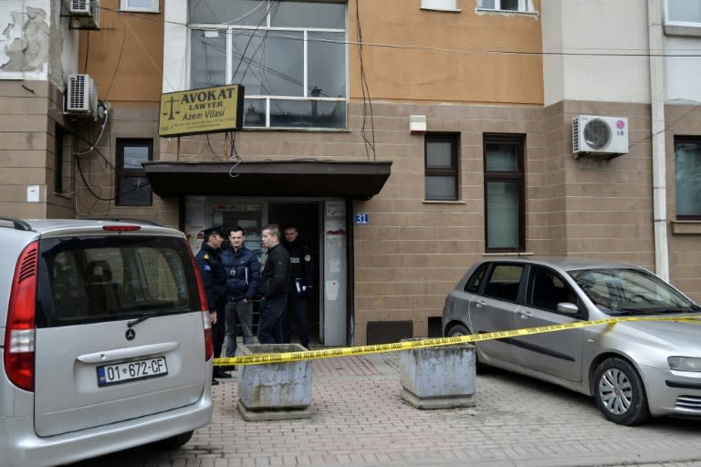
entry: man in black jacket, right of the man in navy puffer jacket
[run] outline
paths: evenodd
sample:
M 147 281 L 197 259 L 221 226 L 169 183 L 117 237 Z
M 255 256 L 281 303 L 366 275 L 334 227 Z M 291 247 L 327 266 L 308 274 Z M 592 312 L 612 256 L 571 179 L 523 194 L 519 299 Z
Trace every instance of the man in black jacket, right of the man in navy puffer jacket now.
M 290 277 L 289 254 L 280 244 L 280 228 L 271 223 L 262 232 L 267 248 L 266 264 L 260 273 L 260 317 L 258 341 L 261 344 L 282 344 L 282 319 L 288 302 Z

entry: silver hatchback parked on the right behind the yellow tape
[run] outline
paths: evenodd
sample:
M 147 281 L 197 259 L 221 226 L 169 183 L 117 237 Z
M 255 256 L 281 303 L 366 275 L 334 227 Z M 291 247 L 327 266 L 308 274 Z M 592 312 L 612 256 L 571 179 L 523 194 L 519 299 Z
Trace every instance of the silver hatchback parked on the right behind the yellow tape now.
M 610 317 L 701 317 L 642 267 L 556 257 L 473 265 L 445 299 L 446 337 Z M 494 366 L 593 396 L 603 415 L 701 417 L 701 321 L 626 321 L 476 343 Z

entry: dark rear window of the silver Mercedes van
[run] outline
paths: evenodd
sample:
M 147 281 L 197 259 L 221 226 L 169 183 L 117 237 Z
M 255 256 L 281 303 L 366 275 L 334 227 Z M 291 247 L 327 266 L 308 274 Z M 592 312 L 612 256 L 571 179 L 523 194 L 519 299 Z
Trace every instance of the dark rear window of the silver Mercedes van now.
M 200 310 L 182 239 L 107 235 L 40 243 L 37 327 Z

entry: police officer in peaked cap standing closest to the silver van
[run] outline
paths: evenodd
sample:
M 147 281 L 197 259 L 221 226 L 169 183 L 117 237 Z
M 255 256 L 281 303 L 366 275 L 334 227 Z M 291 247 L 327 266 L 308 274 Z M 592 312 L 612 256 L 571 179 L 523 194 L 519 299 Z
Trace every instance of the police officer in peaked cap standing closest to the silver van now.
M 226 303 L 226 276 L 224 266 L 219 257 L 219 249 L 224 238 L 221 227 L 212 227 L 204 230 L 204 243 L 195 256 L 197 267 L 202 275 L 204 293 L 207 296 L 210 317 L 212 317 L 212 339 L 214 341 L 214 358 L 219 358 L 224 345 L 225 317 L 224 306 Z M 231 378 L 221 368 L 214 367 L 212 372 L 212 384 L 219 384 L 214 378 Z

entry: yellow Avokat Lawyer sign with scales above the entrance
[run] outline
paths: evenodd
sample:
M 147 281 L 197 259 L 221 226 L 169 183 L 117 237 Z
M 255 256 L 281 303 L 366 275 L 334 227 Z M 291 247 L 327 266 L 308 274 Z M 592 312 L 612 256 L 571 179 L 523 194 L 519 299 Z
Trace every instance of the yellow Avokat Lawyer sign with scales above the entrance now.
M 161 95 L 158 134 L 164 138 L 237 130 L 243 126 L 244 87 L 236 84 Z

